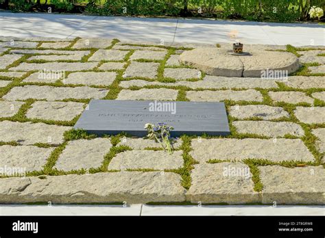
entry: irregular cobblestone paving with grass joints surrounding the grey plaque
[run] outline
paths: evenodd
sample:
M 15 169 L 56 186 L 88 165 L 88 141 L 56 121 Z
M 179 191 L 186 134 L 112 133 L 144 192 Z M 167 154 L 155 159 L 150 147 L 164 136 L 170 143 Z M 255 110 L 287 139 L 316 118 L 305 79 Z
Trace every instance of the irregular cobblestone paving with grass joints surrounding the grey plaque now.
M 325 204 L 324 47 L 286 79 L 205 75 L 178 61 L 196 47 L 2 38 L 0 203 Z M 91 98 L 223 101 L 231 135 L 95 138 L 72 129 Z

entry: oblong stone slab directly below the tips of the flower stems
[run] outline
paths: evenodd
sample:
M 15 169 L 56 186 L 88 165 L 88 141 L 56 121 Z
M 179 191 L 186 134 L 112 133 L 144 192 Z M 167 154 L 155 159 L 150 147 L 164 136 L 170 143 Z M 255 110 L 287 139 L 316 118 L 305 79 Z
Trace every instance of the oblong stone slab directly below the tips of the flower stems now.
M 154 169 L 172 170 L 183 166 L 182 151 L 169 155 L 162 150 L 128 150 L 117 154 L 108 166 L 108 170 Z

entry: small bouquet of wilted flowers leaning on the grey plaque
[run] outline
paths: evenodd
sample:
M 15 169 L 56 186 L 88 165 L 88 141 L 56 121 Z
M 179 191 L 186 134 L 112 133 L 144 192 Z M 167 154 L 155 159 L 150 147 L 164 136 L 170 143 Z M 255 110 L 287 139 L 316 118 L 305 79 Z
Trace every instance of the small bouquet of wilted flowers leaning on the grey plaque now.
M 145 124 L 145 129 L 148 131 L 148 137 L 159 142 L 163 149 L 168 150 L 169 155 L 171 155 L 170 132 L 173 130 L 173 127 L 160 122 L 157 125 L 147 123 Z

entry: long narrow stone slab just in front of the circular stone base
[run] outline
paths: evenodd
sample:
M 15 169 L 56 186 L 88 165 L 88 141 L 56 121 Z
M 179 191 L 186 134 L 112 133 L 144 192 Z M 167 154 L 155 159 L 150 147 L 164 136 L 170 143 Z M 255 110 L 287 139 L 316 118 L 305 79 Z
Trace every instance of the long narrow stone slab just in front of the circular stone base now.
M 121 81 L 120 85 L 123 88 L 132 86 L 143 87 L 145 85 L 164 85 L 164 86 L 186 86 L 189 88 L 197 89 L 220 89 L 220 88 L 278 88 L 276 81 L 272 79 L 258 79 L 258 78 L 245 78 L 242 77 L 216 77 L 207 75 L 203 80 L 199 81 L 176 81 L 176 83 L 161 83 L 158 81 L 145 81 L 145 80 L 129 80 Z

